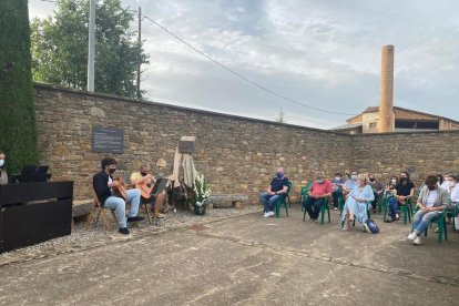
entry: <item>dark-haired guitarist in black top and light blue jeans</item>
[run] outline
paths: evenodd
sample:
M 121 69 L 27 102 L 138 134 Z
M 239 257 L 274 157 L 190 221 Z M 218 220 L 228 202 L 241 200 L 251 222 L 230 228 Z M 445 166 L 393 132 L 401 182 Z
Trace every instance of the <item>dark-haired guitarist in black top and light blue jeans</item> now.
M 105 157 L 101 162 L 102 171 L 96 173 L 92 177 L 92 186 L 102 206 L 105 208 L 115 210 L 119 232 L 121 234 L 129 234 L 126 222 L 142 221 L 143 217 L 137 216 L 139 204 L 141 198 L 141 192 L 137 188 L 129 190 L 126 192 L 128 197 L 124 202 L 123 198 L 112 193 L 112 187 L 119 185 L 118 181 L 113 180 L 112 174 L 116 171 L 116 161 L 112 157 Z M 125 216 L 126 203 L 131 203 L 131 211 L 129 212 L 128 220 Z

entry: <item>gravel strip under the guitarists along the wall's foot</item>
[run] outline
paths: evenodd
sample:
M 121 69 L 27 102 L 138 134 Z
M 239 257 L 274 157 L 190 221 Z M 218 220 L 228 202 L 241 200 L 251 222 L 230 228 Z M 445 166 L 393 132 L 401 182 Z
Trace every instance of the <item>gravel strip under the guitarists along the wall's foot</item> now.
M 146 216 L 143 210 L 140 210 L 142 216 Z M 130 224 L 130 235 L 122 235 L 116 230 L 108 231 L 99 220 L 96 225 L 85 228 L 84 221 L 76 221 L 72 228 L 72 234 L 54 239 L 50 239 L 37 245 L 10 251 L 0 254 L 0 266 L 30 259 L 39 259 L 44 257 L 58 256 L 60 254 L 72 253 L 81 249 L 89 249 L 108 245 L 110 243 L 132 241 L 144 236 L 164 233 L 174 228 L 187 227 L 196 224 L 205 224 L 218 220 L 225 220 L 238 215 L 262 212 L 258 205 L 246 206 L 241 210 L 235 208 L 214 208 L 207 210 L 206 215 L 197 216 L 192 211 L 178 210 L 175 213 L 170 212 L 163 220 L 152 220 L 150 225 L 147 221 Z M 111 217 L 110 214 L 108 214 Z M 112 221 L 112 225 L 115 224 Z

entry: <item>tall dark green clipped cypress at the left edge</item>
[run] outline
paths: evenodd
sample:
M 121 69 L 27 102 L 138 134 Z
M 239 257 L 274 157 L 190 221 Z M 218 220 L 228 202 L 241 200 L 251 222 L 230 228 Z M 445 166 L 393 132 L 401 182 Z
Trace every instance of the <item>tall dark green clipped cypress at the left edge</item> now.
M 38 163 L 27 0 L 0 1 L 0 149 L 9 172 Z

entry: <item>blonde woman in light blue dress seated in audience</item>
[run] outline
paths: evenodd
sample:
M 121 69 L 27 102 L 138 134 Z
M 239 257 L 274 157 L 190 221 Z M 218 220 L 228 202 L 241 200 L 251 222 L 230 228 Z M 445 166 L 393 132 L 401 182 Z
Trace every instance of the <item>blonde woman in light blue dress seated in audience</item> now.
M 350 223 L 354 222 L 354 216 L 356 216 L 357 221 L 363 224 L 363 230 L 367 233 L 371 233 L 367 225 L 367 202 L 374 200 L 375 195 L 371 187 L 368 185 L 368 176 L 365 174 L 359 174 L 357 180 L 357 187 L 351 190 L 343 208 L 343 231 L 348 231 L 350 228 Z

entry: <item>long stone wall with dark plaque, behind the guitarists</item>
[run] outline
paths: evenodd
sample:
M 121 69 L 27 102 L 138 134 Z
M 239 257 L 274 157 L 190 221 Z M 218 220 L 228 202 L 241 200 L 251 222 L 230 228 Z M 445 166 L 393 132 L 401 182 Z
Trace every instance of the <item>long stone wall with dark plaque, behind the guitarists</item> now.
M 328 131 L 45 85 L 35 85 L 35 93 L 41 160 L 53 180 L 75 182 L 76 198 L 90 195 L 92 175 L 109 155 L 91 152 L 92 126 L 124 130 L 124 153 L 113 156 L 125 177 L 159 159 L 172 173 L 178 139 L 196 136 L 196 169 L 213 192 L 248 194 L 251 203 L 278 166 L 297 194 L 317 170 L 335 173 L 349 164 L 350 137 Z

